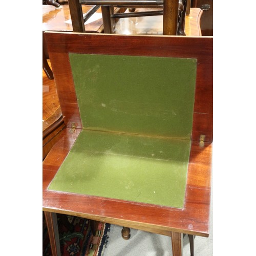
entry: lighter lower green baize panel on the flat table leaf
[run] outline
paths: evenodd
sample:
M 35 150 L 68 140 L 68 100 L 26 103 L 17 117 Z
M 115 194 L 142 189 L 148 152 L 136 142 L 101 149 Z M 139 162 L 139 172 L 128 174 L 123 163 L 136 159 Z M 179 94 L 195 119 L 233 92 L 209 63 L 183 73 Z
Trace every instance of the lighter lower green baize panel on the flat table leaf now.
M 183 207 L 190 140 L 83 130 L 49 189 Z

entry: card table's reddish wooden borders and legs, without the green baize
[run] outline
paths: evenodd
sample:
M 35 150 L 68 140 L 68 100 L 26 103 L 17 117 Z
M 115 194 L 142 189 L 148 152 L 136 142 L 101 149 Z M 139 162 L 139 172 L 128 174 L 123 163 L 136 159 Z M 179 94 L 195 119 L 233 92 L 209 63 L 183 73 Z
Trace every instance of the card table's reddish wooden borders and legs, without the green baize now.
M 67 127 L 43 162 L 43 210 L 47 219 L 53 255 L 59 255 L 56 213 L 170 236 L 174 256 L 182 255 L 182 233 L 208 237 L 213 136 L 212 37 L 52 32 L 46 32 L 45 36 Z M 60 193 L 47 189 L 82 129 L 69 52 L 197 59 L 193 132 L 183 209 Z

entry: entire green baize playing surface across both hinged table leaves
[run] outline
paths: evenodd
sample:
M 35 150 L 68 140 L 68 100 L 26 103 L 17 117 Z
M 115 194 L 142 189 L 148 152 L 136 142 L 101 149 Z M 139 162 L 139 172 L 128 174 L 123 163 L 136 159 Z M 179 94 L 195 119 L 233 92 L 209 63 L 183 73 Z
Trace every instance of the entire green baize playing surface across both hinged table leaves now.
M 182 208 L 196 59 L 70 54 L 83 129 L 49 189 Z

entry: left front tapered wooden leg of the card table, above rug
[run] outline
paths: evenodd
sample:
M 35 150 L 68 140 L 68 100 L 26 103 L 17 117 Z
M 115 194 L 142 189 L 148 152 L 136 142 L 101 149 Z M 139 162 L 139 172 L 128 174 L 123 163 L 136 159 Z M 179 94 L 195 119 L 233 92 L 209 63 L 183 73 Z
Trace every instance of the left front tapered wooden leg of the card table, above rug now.
M 45 211 L 45 218 L 49 233 L 52 256 L 60 256 L 57 215 L 54 212 Z

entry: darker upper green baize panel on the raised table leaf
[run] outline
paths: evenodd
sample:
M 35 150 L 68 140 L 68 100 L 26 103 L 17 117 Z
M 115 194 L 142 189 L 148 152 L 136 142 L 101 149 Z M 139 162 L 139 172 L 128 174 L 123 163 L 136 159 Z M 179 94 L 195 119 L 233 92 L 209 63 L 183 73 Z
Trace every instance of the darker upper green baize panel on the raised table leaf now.
M 190 139 L 196 59 L 70 54 L 86 129 Z

